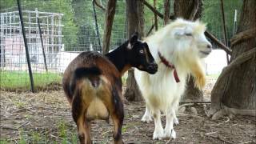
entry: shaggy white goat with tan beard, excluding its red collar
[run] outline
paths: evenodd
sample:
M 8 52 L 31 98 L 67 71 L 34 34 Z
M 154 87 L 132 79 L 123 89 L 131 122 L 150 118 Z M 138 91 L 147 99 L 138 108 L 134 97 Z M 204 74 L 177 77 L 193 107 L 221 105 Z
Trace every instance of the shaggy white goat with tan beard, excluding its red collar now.
M 186 89 L 188 74 L 194 76 L 194 84 L 199 89 L 205 85 L 201 59 L 211 51 L 211 44 L 204 35 L 205 30 L 206 26 L 201 22 L 177 19 L 145 38 L 158 63 L 158 72 L 150 75 L 135 70 L 135 79 L 146 101 L 146 112 L 142 121 L 150 122 L 151 115 L 154 118 L 154 139 L 176 138 L 173 123 L 178 123 L 178 119 L 175 110 L 178 109 L 178 102 Z M 158 52 L 176 67 L 180 82 L 175 81 L 174 70 L 161 62 Z M 161 111 L 166 114 L 165 130 L 162 128 Z

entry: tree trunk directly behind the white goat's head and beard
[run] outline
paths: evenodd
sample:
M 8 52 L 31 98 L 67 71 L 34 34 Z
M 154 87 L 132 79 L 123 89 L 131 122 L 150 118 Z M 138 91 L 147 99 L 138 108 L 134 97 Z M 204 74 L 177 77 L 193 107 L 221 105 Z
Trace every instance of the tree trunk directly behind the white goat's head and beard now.
M 177 18 L 185 18 L 196 20 L 202 15 L 202 0 L 175 0 L 174 16 Z M 187 88 L 182 96 L 183 101 L 202 101 L 202 90 L 194 86 L 194 78 L 191 76 L 186 82 Z

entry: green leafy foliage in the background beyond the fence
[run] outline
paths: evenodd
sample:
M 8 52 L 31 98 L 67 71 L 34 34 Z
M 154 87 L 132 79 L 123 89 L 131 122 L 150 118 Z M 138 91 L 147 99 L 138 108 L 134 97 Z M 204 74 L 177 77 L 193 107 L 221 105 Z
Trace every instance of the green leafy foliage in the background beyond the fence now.
M 0 0 L 0 10 L 17 6 L 16 0 Z M 94 50 L 98 50 L 98 37 L 96 33 L 94 9 L 92 1 L 87 0 L 21 0 L 23 10 L 34 10 L 38 8 L 41 11 L 57 12 L 64 14 L 62 18 L 62 34 L 63 42 L 66 50 L 88 50 L 90 46 L 94 46 Z M 102 6 L 106 7 L 107 0 L 98 0 Z M 147 0 L 152 6 L 154 0 Z M 156 0 L 157 10 L 164 13 L 164 2 Z M 170 1 L 173 9 L 174 0 Z M 242 7 L 242 0 L 225 0 L 224 10 L 226 17 L 227 36 L 230 39 L 234 32 L 234 10 L 238 12 Z M 4 4 L 2 4 L 4 3 Z M 145 18 L 145 34 L 154 24 L 154 14 L 144 6 Z M 96 16 L 98 20 L 99 38 L 102 43 L 105 13 L 102 9 L 95 6 Z M 238 14 L 239 15 L 239 14 Z M 238 18 L 239 19 L 239 18 Z M 203 16 L 202 21 L 208 23 L 208 30 L 216 37 L 222 40 L 222 15 L 220 0 L 203 0 Z M 158 27 L 163 26 L 163 21 L 158 18 Z M 111 34 L 111 48 L 119 45 L 126 39 L 126 1 L 118 0 L 116 14 L 114 16 L 114 26 Z M 101 44 L 102 45 L 102 44 Z

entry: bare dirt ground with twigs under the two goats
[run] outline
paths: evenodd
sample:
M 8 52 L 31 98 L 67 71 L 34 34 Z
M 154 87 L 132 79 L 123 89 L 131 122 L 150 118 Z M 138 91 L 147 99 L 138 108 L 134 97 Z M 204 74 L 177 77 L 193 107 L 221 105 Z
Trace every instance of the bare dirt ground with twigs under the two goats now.
M 204 93 L 209 100 L 212 82 Z M 7 92 L 1 94 L 0 143 L 76 143 L 76 125 L 71 117 L 70 106 L 62 90 Z M 193 106 L 198 114 L 189 110 Z M 179 114 L 179 124 L 174 126 L 174 140 L 152 140 L 154 122 L 140 121 L 145 110 L 144 102 L 125 105 L 122 128 L 125 143 L 256 143 L 256 118 L 237 116 L 230 120 L 213 121 L 206 117 L 209 104 L 186 106 L 185 114 Z M 162 117 L 163 126 L 165 118 Z M 113 125 L 97 121 L 92 125 L 94 143 L 112 143 Z

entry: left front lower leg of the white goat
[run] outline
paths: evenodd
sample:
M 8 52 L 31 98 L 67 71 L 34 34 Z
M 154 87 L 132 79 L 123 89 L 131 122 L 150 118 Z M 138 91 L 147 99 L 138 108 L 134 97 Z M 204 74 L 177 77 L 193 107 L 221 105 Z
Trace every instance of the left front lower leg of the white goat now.
M 153 118 L 154 118 L 154 134 L 153 139 L 162 139 L 164 131 L 162 129 L 162 122 L 161 122 L 161 112 L 160 110 L 152 110 Z

